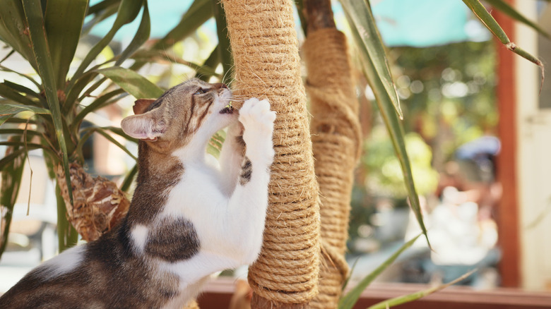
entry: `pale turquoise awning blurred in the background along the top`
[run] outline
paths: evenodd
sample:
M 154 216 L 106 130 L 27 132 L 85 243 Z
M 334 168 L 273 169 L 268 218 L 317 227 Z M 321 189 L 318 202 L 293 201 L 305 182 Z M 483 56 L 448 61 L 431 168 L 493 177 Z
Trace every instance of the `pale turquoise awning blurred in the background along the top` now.
M 357 0 L 362 1 L 362 0 Z M 95 4 L 99 0 L 91 0 Z M 164 37 L 179 23 L 182 15 L 191 5 L 191 0 L 149 1 L 151 38 Z M 429 47 L 463 41 L 490 40 L 482 24 L 459 0 L 372 0 L 372 11 L 386 46 Z M 342 16 L 342 8 L 333 4 L 335 16 Z M 339 19 L 339 18 L 338 18 Z M 128 43 L 138 29 L 140 15 L 133 23 L 117 32 L 114 40 Z M 114 22 L 114 16 L 96 25 L 91 33 L 104 36 Z M 208 22 L 207 28 L 215 33 L 215 23 Z M 216 40 L 215 37 L 213 37 Z

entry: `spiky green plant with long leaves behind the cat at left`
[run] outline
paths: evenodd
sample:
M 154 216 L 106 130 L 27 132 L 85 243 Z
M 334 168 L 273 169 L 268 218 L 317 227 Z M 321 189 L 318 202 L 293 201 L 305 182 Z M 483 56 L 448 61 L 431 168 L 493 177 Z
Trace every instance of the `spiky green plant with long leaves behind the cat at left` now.
M 136 19 L 140 11 L 142 17 L 139 28 L 126 49 L 112 59 L 99 61 L 98 55 L 112 42 L 116 32 Z M 116 18 L 107 35 L 91 47 L 83 59 L 76 59 L 75 52 L 78 44 L 82 44 L 81 38 L 95 24 L 112 15 Z M 33 149 L 43 150 L 49 175 L 57 178 L 57 192 L 64 197 L 57 201 L 59 248 L 64 250 L 76 243 L 77 234 L 66 219 L 66 204 L 70 205 L 71 211 L 78 206 L 71 207 L 74 205 L 73 196 L 78 195 L 72 191 L 80 190 L 82 184 L 75 181 L 71 184 L 71 173 L 84 173 L 82 147 L 85 140 L 92 133 L 99 133 L 126 152 L 128 150 L 114 140 L 111 134 L 132 140 L 120 128 L 82 128 L 83 120 L 88 114 L 128 94 L 136 99 L 160 96 L 163 90 L 136 73 L 136 70 L 144 63 L 167 57 L 170 54 L 167 49 L 193 33 L 212 15 L 210 1 L 195 1 L 183 16 L 182 22 L 166 37 L 148 51 L 136 54 L 149 39 L 147 1 L 104 0 L 93 6 L 86 0 L 3 1 L 0 7 L 0 40 L 12 50 L 1 59 L 0 70 L 15 73 L 32 86 L 11 80 L 0 83 L 0 134 L 10 136 L 7 141 L 0 142 L 0 145 L 7 147 L 6 155 L 0 159 L 1 205 L 6 208 L 5 224 L 1 226 L 0 255 L 7 243 L 25 156 L 28 150 Z M 14 71 L 2 64 L 15 53 L 30 63 L 37 73 L 36 80 L 33 75 Z M 131 56 L 135 56 L 134 65 L 124 68 L 124 61 Z M 220 48 L 215 49 L 203 66 L 170 55 L 172 62 L 196 68 L 202 78 L 217 75 L 211 67 L 217 66 L 220 58 Z M 100 87 L 105 90 L 100 92 Z M 89 103 L 82 106 L 81 102 L 85 99 Z M 129 187 L 134 174 L 136 168 L 131 170 L 122 188 Z M 114 183 L 105 181 L 105 186 L 111 187 L 109 190 L 113 192 L 118 190 Z M 122 200 L 126 198 L 123 196 Z M 121 211 L 124 212 L 124 209 Z

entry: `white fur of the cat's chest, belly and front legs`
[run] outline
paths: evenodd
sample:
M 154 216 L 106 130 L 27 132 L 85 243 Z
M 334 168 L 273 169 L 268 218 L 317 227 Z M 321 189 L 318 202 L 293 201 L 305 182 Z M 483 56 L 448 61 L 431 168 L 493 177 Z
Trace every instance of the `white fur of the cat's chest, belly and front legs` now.
M 219 101 L 215 104 L 227 104 L 225 99 Z M 223 117 L 229 116 L 213 114 L 206 121 L 221 126 Z M 235 126 L 228 131 L 223 145 L 221 169 L 207 164 L 204 155 L 208 139 L 220 129 L 216 126 L 203 124 L 188 145 L 173 153 L 184 164 L 185 173 L 171 190 L 160 217 L 189 219 L 201 243 L 199 253 L 190 260 L 160 265 L 179 275 L 183 298 L 199 293 L 199 283 L 214 272 L 251 264 L 258 257 L 268 206 L 274 120 L 275 112 L 270 111 L 266 100 L 249 99 L 239 111 L 247 144 L 245 155 L 252 164 L 251 179 L 244 186 L 237 181 L 242 157 L 234 141 L 233 134 L 239 133 Z

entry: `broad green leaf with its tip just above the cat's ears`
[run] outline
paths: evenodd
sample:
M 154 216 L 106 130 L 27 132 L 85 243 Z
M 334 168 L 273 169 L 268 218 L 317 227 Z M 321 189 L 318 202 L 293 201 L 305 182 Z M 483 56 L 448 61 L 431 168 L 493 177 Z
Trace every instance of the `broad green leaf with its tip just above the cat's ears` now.
M 97 70 L 97 73 L 109 78 L 136 99 L 153 99 L 160 97 L 164 92 L 142 75 L 128 68 L 102 68 Z

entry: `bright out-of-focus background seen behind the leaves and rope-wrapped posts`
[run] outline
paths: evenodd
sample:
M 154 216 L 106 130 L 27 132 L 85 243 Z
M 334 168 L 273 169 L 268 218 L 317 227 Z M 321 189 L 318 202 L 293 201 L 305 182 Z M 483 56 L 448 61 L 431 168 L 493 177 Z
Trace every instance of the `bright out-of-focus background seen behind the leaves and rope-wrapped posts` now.
M 524 16 L 551 32 L 547 1 L 514 2 Z M 155 1 L 150 7 L 150 40 L 163 37 L 179 23 L 190 4 Z M 433 247 L 429 250 L 420 238 L 377 280 L 447 282 L 478 267 L 479 272 L 461 284 L 475 289 L 511 286 L 551 291 L 551 241 L 546 237 L 551 234 L 549 78 L 540 92 L 537 66 L 494 41 L 461 1 L 374 0 L 371 4 L 401 98 L 406 147 Z M 348 33 L 337 3 L 333 11 L 340 30 Z M 551 59 L 550 40 L 510 18 L 495 17 L 511 41 L 544 63 Z M 108 18 L 93 28 L 83 39 L 86 44 L 79 44 L 76 57 L 82 58 L 112 23 Z M 124 26 L 100 58 L 109 59 L 124 49 L 132 38 L 127 33 L 137 27 L 138 23 Z M 203 63 L 218 43 L 215 27 L 214 20 L 208 20 L 194 35 L 174 44 L 172 52 L 186 61 Z M 298 20 L 297 32 L 301 39 Z M 8 52 L 0 48 L 0 59 Z M 354 51 L 350 52 L 354 58 Z M 32 74 L 28 63 L 16 55 L 3 64 Z M 170 61 L 149 63 L 140 73 L 164 88 L 195 75 L 189 66 Z M 1 79 L 25 83 L 19 76 L 1 74 Z M 364 152 L 352 193 L 347 257 L 353 267 L 352 281 L 420 233 L 391 140 L 360 71 L 357 95 Z M 93 114 L 90 121 L 119 126 L 133 103 L 126 97 Z M 126 146 L 137 152 L 136 145 Z M 93 135 L 84 150 L 88 173 L 93 175 L 120 182 L 134 165 L 131 157 L 101 135 Z M 41 160 L 40 151 L 30 152 L 34 176 L 29 215 L 30 171 L 25 171 L 10 242 L 0 260 L 0 293 L 57 251 L 54 186 L 41 169 Z

